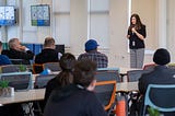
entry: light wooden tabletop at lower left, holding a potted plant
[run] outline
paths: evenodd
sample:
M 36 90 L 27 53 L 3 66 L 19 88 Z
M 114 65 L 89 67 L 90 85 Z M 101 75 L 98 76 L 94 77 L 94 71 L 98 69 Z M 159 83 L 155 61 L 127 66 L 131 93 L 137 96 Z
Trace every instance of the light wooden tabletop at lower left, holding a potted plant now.
M 14 96 L 0 97 L 0 106 L 5 104 L 13 104 L 13 103 L 40 101 L 40 100 L 44 100 L 44 95 L 45 95 L 45 89 L 14 92 Z

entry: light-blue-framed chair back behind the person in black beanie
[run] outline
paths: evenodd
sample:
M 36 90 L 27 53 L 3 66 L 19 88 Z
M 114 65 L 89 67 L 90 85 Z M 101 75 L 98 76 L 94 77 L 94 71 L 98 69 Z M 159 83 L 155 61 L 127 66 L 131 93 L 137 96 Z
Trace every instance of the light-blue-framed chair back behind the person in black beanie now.
M 149 84 L 144 96 L 143 115 L 148 105 L 160 112 L 175 112 L 174 96 L 174 84 Z

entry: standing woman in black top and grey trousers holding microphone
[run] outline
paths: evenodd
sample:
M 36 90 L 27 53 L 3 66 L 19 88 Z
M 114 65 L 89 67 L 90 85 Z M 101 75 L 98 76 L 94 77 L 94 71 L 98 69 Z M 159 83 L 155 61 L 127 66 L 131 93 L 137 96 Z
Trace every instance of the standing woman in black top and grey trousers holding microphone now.
M 141 23 L 138 14 L 132 14 L 127 35 L 130 48 L 130 68 L 142 68 L 143 66 L 145 36 L 145 25 Z

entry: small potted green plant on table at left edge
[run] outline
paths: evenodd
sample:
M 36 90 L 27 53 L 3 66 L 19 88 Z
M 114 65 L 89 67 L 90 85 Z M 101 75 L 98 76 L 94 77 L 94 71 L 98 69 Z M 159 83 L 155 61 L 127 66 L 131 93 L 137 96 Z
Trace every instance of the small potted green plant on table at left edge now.
M 0 97 L 11 96 L 13 89 L 9 86 L 9 82 L 5 80 L 0 81 Z

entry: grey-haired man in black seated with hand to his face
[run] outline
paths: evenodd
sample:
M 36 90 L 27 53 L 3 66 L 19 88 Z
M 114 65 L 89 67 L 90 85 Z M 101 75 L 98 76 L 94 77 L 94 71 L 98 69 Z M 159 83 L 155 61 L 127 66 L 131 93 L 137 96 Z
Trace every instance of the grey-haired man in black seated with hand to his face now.
M 30 60 L 34 58 L 34 54 L 25 46 L 22 46 L 19 38 L 10 39 L 9 48 L 9 50 L 2 50 L 2 55 L 7 55 L 10 59 L 24 59 L 30 63 Z

